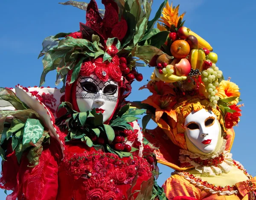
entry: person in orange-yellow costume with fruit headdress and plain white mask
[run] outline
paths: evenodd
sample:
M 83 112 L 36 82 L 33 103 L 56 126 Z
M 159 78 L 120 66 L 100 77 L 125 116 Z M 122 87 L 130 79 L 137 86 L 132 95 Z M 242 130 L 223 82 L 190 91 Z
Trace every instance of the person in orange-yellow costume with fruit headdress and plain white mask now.
M 145 136 L 158 149 L 157 162 L 175 171 L 163 184 L 170 200 L 255 200 L 256 177 L 232 159 L 233 126 L 241 116 L 239 87 L 224 80 L 217 55 L 183 26 L 184 14 L 167 3 L 158 28 L 169 30 L 166 54 L 151 60 L 153 93 L 137 107 L 157 123 Z M 188 50 L 188 51 L 187 51 Z M 142 89 L 143 89 L 142 88 Z

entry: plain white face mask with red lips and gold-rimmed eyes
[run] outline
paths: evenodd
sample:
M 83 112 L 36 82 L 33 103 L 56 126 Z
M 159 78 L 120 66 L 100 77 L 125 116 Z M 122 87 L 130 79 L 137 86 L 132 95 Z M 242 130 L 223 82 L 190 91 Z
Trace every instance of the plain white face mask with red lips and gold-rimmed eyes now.
M 195 147 L 204 153 L 215 150 L 221 133 L 217 117 L 211 110 L 201 109 L 185 118 L 186 136 Z

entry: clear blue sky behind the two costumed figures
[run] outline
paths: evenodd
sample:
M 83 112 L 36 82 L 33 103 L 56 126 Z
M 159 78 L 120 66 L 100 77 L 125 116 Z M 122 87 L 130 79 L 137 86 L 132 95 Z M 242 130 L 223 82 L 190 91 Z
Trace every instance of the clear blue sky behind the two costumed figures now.
M 88 0 L 89 1 L 89 0 Z M 101 4 L 100 0 L 96 0 Z M 72 6 L 62 6 L 58 0 L 1 0 L 0 5 L 0 87 L 35 86 L 39 84 L 43 65 L 38 54 L 41 43 L 58 32 L 75 32 L 79 22 L 85 23 L 85 12 Z M 152 14 L 162 0 L 154 0 Z M 171 2 L 170 2 L 171 3 Z M 218 54 L 217 66 L 224 77 L 231 77 L 241 88 L 242 117 L 235 128 L 233 159 L 241 162 L 247 171 L 256 176 L 255 74 L 256 28 L 255 0 L 174 0 L 184 11 L 185 26 L 206 39 Z M 99 6 L 102 8 L 102 5 Z M 142 82 L 135 81 L 130 101 L 146 99 L 147 90 L 138 92 L 146 84 L 153 69 L 139 68 Z M 55 72 L 47 76 L 45 86 L 54 87 Z M 151 122 L 149 128 L 156 125 Z M 160 165 L 163 173 L 158 179 L 162 185 L 171 173 L 169 167 Z M 0 200 L 6 194 L 0 191 Z

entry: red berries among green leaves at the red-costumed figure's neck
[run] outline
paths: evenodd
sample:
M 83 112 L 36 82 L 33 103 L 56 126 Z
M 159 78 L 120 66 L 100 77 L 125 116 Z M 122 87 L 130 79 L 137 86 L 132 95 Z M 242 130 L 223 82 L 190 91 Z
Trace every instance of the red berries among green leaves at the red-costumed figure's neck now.
M 131 151 L 131 146 L 124 144 L 125 142 L 125 137 L 129 136 L 130 132 L 129 130 L 124 130 L 124 131 L 115 131 L 115 139 L 113 141 L 113 143 L 116 143 L 114 145 L 114 148 L 117 151 L 126 151 L 126 152 L 130 152 Z

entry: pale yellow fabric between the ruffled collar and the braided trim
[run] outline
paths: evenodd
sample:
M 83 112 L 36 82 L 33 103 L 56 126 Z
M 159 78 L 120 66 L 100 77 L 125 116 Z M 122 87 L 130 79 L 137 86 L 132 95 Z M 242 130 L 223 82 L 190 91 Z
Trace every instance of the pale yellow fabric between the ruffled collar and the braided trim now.
M 200 174 L 197 170 L 187 170 L 190 174 L 193 174 L 197 178 L 201 178 L 203 181 L 207 181 L 216 186 L 233 186 L 238 182 L 248 180 L 243 171 L 233 166 L 228 174 L 221 174 L 215 177 L 207 177 L 204 174 Z

